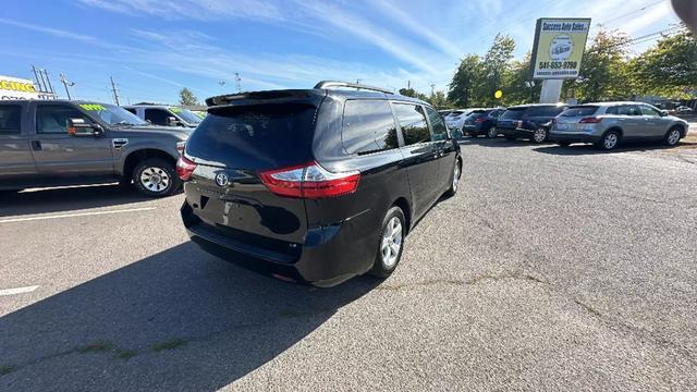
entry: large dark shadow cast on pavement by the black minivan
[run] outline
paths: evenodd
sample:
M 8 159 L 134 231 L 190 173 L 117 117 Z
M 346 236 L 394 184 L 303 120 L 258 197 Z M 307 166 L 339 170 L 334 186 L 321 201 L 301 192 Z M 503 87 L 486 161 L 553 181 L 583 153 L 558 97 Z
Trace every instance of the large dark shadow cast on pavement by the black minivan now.
M 0 390 L 213 391 L 378 283 L 293 285 L 184 243 L 0 318 Z

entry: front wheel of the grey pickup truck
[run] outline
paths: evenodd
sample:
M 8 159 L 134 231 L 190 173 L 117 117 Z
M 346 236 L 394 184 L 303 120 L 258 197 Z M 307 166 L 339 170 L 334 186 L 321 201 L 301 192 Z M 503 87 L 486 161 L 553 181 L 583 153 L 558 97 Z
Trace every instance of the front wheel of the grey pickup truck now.
M 133 170 L 132 180 L 135 188 L 148 197 L 171 196 L 182 186 L 174 163 L 160 158 L 138 162 Z

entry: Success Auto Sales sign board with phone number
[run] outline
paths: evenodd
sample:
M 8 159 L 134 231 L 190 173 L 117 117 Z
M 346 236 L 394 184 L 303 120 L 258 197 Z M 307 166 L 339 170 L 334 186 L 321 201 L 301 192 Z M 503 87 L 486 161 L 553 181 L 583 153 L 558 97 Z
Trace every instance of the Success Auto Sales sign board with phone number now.
M 531 78 L 578 77 L 589 28 L 589 19 L 537 20 Z

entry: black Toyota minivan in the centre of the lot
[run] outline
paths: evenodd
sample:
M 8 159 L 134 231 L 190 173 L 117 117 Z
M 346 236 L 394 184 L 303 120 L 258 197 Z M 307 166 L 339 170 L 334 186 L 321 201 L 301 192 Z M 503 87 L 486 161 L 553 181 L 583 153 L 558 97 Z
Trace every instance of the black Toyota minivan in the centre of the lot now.
M 420 100 L 320 82 L 206 103 L 178 162 L 184 225 L 205 250 L 278 279 L 387 278 L 415 222 L 457 191 L 460 146 Z

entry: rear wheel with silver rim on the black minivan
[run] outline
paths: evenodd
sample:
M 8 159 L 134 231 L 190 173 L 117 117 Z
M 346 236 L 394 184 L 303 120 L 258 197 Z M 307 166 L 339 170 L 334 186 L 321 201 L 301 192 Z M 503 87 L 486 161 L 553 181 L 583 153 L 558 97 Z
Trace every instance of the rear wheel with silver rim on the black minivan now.
M 399 223 L 399 226 L 395 226 L 395 222 Z M 405 222 L 404 212 L 400 207 L 392 206 L 388 210 L 384 219 L 382 219 L 378 253 L 375 257 L 372 269 L 369 272 L 371 275 L 386 279 L 396 269 L 402 258 L 402 250 L 404 249 Z M 383 256 L 383 253 L 389 254 Z

